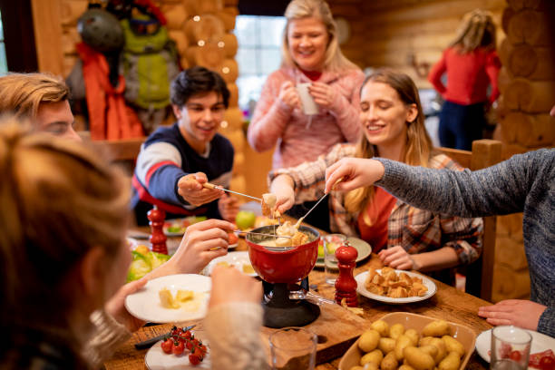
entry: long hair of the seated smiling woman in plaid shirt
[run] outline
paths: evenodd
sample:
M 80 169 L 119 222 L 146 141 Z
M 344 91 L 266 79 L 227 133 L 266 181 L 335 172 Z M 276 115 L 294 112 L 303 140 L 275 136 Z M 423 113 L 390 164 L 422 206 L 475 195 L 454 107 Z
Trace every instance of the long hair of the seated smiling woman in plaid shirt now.
M 406 122 L 406 141 L 404 145 L 404 163 L 412 166 L 428 165 L 428 161 L 432 155 L 433 144 L 426 128 L 424 126 L 424 113 L 422 112 L 422 105 L 420 97 L 418 96 L 418 89 L 414 85 L 413 80 L 404 73 L 399 73 L 391 69 L 379 69 L 366 77 L 365 82 L 361 87 L 365 87 L 366 83 L 385 83 L 392 87 L 399 95 L 399 98 L 406 105 L 416 105 L 417 115 L 413 122 Z M 356 144 L 355 157 L 356 158 L 372 158 L 375 156 L 375 146 L 372 145 L 362 135 L 360 141 Z M 356 213 L 365 209 L 368 202 L 374 196 L 374 187 L 364 187 L 356 190 L 349 191 L 345 197 L 346 210 L 348 212 Z M 371 221 L 365 219 L 366 224 L 371 225 Z

